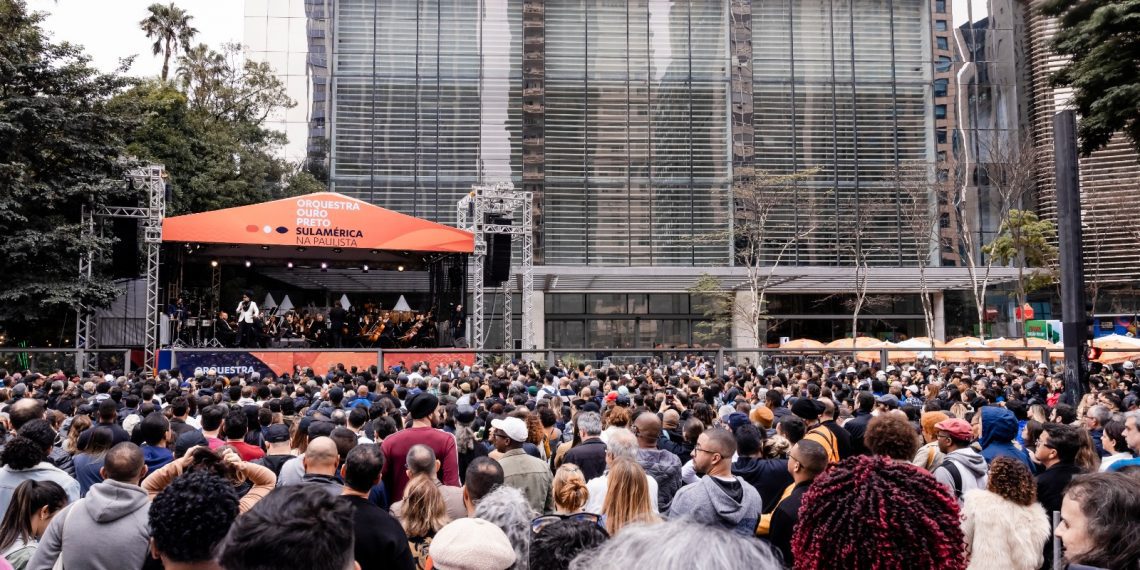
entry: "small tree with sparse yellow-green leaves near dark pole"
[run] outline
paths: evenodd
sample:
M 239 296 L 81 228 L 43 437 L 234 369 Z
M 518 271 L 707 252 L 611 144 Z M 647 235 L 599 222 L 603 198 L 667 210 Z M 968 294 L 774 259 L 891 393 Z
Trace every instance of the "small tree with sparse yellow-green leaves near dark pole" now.
M 1053 283 L 1052 268 L 1057 264 L 1057 228 L 1049 220 L 1025 210 L 1011 210 L 997 237 L 983 247 L 986 255 L 999 263 L 1017 264 L 1017 306 L 1025 307 L 1029 293 Z M 1029 270 L 1033 268 L 1033 270 Z M 1025 323 L 1021 323 L 1025 333 Z

